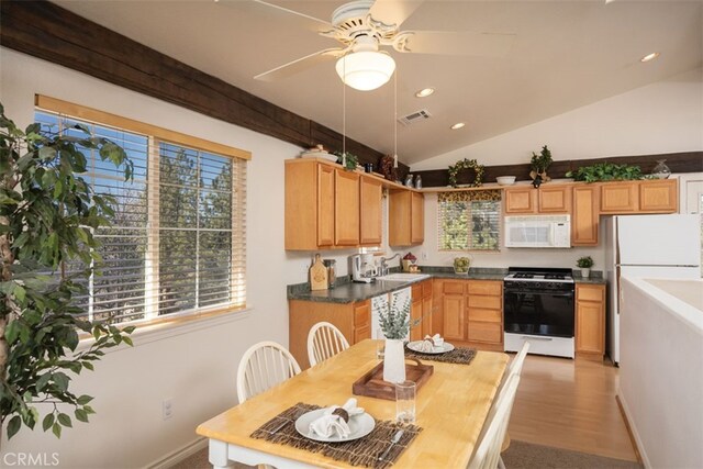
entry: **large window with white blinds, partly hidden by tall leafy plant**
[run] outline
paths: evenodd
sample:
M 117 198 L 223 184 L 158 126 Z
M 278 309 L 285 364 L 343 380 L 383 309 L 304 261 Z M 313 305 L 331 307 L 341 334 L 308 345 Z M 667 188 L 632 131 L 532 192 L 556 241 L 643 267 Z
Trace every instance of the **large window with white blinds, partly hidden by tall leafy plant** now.
M 101 275 L 76 298 L 91 320 L 140 323 L 233 311 L 246 305 L 246 161 L 249 154 L 52 98 L 37 97 L 35 122 L 48 135 L 111 139 L 134 164 L 132 181 L 83 150 L 83 179 L 112 196 Z M 70 275 L 93 266 L 63 266 Z M 54 275 L 59 275 L 54 273 Z

